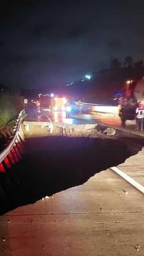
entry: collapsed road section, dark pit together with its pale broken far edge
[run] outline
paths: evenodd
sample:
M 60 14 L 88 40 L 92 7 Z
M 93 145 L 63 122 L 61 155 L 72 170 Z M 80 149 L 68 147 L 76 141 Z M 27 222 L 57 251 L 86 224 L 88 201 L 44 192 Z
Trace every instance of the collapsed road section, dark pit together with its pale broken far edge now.
M 18 147 L 1 163 L 1 214 L 83 184 L 95 173 L 137 154 L 144 144 L 134 135 L 97 124 L 24 120 L 20 129 L 26 138 L 22 159 Z

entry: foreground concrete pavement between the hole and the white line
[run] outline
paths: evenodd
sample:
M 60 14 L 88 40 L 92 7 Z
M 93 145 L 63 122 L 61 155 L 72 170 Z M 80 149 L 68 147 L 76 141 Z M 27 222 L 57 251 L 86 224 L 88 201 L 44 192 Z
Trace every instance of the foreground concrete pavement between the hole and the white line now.
M 1 216 L 0 255 L 144 255 L 143 215 L 143 194 L 105 170 Z

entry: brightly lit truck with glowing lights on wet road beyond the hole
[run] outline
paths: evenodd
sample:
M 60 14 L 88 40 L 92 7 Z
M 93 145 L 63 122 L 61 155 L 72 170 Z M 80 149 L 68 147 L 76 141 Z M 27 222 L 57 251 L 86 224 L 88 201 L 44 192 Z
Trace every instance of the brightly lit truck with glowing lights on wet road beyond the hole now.
M 65 97 L 59 97 L 58 95 L 44 94 L 40 98 L 40 110 L 41 113 L 45 111 L 65 111 L 67 100 Z

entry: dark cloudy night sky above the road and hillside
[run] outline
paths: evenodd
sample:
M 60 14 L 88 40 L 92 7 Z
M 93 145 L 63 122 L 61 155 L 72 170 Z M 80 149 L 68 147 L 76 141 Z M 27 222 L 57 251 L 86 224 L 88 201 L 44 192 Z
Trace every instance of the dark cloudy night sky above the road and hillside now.
M 107 68 L 112 56 L 144 59 L 143 7 L 143 1 L 102 0 L 1 8 L 0 83 L 61 87 Z

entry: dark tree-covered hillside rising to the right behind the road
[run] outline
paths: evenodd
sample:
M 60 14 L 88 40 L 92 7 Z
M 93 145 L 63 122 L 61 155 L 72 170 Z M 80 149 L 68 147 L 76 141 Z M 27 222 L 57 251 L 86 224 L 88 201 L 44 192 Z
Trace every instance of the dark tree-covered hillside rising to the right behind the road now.
M 143 76 L 143 60 L 134 62 L 131 56 L 127 56 L 122 65 L 118 59 L 113 58 L 110 68 L 92 72 L 90 80 L 81 78 L 72 85 L 67 84 L 66 92 L 75 100 L 84 98 L 85 102 L 112 104 L 114 93 L 123 92 L 127 80 L 137 82 Z

